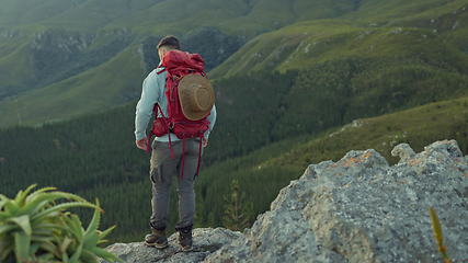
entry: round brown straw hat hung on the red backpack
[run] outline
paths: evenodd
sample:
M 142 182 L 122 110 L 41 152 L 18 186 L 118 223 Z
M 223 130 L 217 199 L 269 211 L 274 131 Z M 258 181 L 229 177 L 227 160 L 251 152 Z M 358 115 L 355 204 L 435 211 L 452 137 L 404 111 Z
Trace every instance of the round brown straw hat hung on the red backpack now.
M 199 75 L 187 75 L 179 82 L 182 113 L 190 121 L 208 115 L 215 104 L 215 92 L 209 80 Z

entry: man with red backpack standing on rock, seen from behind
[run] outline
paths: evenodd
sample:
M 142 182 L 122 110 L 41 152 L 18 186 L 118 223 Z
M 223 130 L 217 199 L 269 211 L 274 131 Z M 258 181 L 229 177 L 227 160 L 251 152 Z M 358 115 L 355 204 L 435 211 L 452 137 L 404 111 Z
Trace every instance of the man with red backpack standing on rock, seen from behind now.
M 136 146 L 151 150 L 150 180 L 152 183 L 151 233 L 145 243 L 163 249 L 168 247 L 170 187 L 178 179 L 179 243 L 182 250 L 192 249 L 192 227 L 195 214 L 194 180 L 199 171 L 203 148 L 216 121 L 214 92 L 203 71 L 198 54 L 180 50 L 174 36 L 165 36 L 158 44 L 161 64 L 142 83 L 141 98 L 136 106 Z M 146 129 L 155 115 L 150 144 Z

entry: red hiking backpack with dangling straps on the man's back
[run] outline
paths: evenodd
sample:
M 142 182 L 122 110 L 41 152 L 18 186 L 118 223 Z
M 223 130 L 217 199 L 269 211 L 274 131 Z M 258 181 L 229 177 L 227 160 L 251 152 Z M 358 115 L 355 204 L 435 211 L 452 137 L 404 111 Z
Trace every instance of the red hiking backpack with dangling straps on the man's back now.
M 171 134 L 174 134 L 179 139 L 181 139 L 181 176 L 183 176 L 185 139 L 199 138 L 198 164 L 196 169 L 196 175 L 198 175 L 202 159 L 202 140 L 204 138 L 205 132 L 209 128 L 209 121 L 207 119 L 207 117 L 209 116 L 209 112 L 199 119 L 187 118 L 183 113 L 182 105 L 179 99 L 179 83 L 181 83 L 181 81 L 191 81 L 191 79 L 206 79 L 206 75 L 204 72 L 204 60 L 198 54 L 189 54 L 181 50 L 170 50 L 164 55 L 160 67 L 163 67 L 164 69 L 158 71 L 158 75 L 164 71 L 168 72 L 165 77 L 164 92 L 168 102 L 168 116 L 164 116 L 161 107 L 158 103 L 156 103 L 153 107 L 156 119 L 152 124 L 151 133 L 148 138 L 148 144 L 150 144 L 149 141 L 151 141 L 151 137 L 153 135 L 157 137 L 161 137 L 168 134 L 169 148 L 171 149 L 171 158 L 174 158 Z M 151 147 L 148 146 L 148 151 L 150 148 Z

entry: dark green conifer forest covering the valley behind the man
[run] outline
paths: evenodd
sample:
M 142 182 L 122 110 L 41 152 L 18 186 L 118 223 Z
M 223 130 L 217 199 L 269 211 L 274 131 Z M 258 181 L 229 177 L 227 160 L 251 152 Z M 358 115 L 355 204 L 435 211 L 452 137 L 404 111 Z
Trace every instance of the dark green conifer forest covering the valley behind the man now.
M 219 118 L 197 179 L 196 226 L 233 226 L 232 218 L 238 218 L 241 226 L 236 228 L 247 227 L 259 213 L 267 209 L 279 188 L 299 176 L 308 163 L 340 158 L 351 146 L 388 151 L 398 141 L 416 142 L 422 147 L 435 139 L 457 138 L 466 150 L 466 133 L 458 132 L 468 130 L 466 100 L 443 104 L 444 107 L 450 105 L 452 114 L 459 116 L 457 122 L 446 126 L 440 112 L 414 115 L 415 119 L 431 121 L 427 124 L 432 125 L 431 128 L 436 127 L 425 137 L 411 133 L 397 136 L 391 139 L 395 140 L 391 145 L 388 142 L 387 147 L 381 147 L 380 144 L 388 140 L 387 134 L 403 128 L 410 130 L 415 128 L 415 124 L 424 122 L 408 121 L 402 125 L 398 118 L 406 116 L 403 112 L 384 118 L 391 122 L 378 123 L 373 129 L 363 132 L 380 140 L 373 139 L 367 144 L 368 139 L 361 138 L 358 133 L 340 142 L 340 137 L 329 139 L 327 130 L 333 132 L 354 118 L 467 95 L 465 87 L 468 82 L 454 85 L 443 73 L 438 76 L 442 80 L 437 82 L 438 89 L 433 90 L 431 96 L 421 95 L 413 92 L 411 79 L 420 81 L 420 76 L 411 72 L 407 72 L 406 82 L 395 85 L 406 94 L 407 100 L 395 96 L 395 89 L 388 89 L 385 81 L 380 82 L 381 87 L 375 87 L 380 92 L 376 93 L 373 89 L 366 93 L 365 84 L 357 85 L 355 83 L 359 82 L 353 81 L 365 72 L 363 65 L 367 64 L 327 62 L 305 71 L 263 72 L 215 81 Z M 326 80 L 333 78 L 334 84 L 327 84 L 330 81 Z M 358 92 L 351 92 L 353 90 Z M 362 105 L 367 105 L 365 108 Z M 73 121 L 2 130 L 0 192 L 12 195 L 20 188 L 38 183 L 41 186 L 54 185 L 89 199 L 98 197 L 106 210 L 103 224 L 118 226 L 114 238 L 138 240 L 147 229 L 150 186 L 149 156 L 134 146 L 134 112 L 135 103 L 130 103 Z M 377 133 L 381 126 L 386 127 L 385 133 Z M 376 127 L 378 129 L 374 130 Z M 313 138 L 320 142 L 308 142 Z M 353 141 L 354 145 L 351 144 Z M 317 146 L 304 149 L 308 144 Z M 301 152 L 282 158 L 285 152 L 300 149 Z M 233 209 L 230 206 L 236 202 L 243 203 L 239 208 L 241 210 L 229 216 Z M 176 210 L 175 204 L 174 192 L 173 211 Z M 171 216 L 174 224 L 176 213 Z

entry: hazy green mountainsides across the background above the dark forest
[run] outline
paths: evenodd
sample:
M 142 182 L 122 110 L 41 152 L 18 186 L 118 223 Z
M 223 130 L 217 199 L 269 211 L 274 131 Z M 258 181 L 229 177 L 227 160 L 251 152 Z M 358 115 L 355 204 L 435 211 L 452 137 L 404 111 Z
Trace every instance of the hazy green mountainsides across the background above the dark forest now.
M 168 33 L 182 36 L 212 69 L 271 32 L 213 70 L 215 79 L 322 62 L 340 67 L 345 60 L 365 65 L 356 81 L 368 89 L 383 79 L 414 87 L 466 81 L 466 0 L 55 2 L 0 1 L 0 127 L 67 119 L 135 100 L 157 65 L 153 46 Z M 32 5 L 27 15 L 25 5 Z

